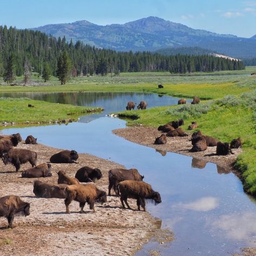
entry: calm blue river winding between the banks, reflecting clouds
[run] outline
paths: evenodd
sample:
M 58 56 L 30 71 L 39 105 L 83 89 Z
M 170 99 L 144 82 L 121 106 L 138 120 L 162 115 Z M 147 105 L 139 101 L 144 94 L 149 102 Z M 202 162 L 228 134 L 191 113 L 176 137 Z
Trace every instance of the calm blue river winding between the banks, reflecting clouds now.
M 126 122 L 103 116 L 123 109 L 128 100 L 139 102 L 143 99 L 148 106 L 164 106 L 172 104 L 173 99 L 146 94 L 109 95 L 112 100 L 104 94 L 95 101 L 87 103 L 86 99 L 80 99 L 76 102 L 106 109 L 91 122 L 81 117 L 80 122 L 68 126 L 7 128 L 3 133 L 19 132 L 23 138 L 32 134 L 45 145 L 76 149 L 80 153 L 119 162 L 127 168 L 139 169 L 145 175 L 145 181 L 152 184 L 162 198 L 160 205 L 148 204 L 148 211 L 160 218 L 162 228 L 171 229 L 176 239 L 168 247 L 150 242 L 136 255 L 148 255 L 149 248 L 160 251 L 161 255 L 230 255 L 239 252 L 241 247 L 255 246 L 256 205 L 243 192 L 242 184 L 234 174 L 227 174 L 212 163 L 157 152 L 117 137 L 111 131 L 126 127 Z M 173 100 L 174 104 L 176 102 L 177 99 Z

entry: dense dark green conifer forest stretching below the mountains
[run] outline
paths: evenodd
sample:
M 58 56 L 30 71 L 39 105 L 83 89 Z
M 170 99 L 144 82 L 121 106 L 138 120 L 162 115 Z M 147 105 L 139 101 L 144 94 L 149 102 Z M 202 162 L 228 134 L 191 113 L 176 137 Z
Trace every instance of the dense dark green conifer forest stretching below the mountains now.
M 119 52 L 91 47 L 81 41 L 67 42 L 65 37 L 55 38 L 40 31 L 0 26 L 0 76 L 9 82 L 15 75 L 24 75 L 25 80 L 30 71 L 39 73 L 45 81 L 54 75 L 64 83 L 70 75 L 118 75 L 140 71 L 184 74 L 244 68 L 241 61 L 207 54 L 165 56 L 149 51 Z

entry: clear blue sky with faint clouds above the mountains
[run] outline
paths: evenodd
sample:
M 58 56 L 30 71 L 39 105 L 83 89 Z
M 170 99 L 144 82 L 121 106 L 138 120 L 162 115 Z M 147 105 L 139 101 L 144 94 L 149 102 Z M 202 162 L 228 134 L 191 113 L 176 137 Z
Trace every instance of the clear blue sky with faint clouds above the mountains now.
M 122 24 L 148 16 L 219 34 L 256 34 L 256 0 L 0 0 L 0 25 L 21 29 L 84 19 Z

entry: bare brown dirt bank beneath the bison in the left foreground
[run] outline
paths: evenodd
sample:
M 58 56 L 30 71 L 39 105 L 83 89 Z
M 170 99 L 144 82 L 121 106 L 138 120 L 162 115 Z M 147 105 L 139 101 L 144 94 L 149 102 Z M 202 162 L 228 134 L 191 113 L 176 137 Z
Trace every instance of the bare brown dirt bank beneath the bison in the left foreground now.
M 50 148 L 42 144 L 25 145 L 17 148 L 31 149 L 37 152 L 37 164 L 48 162 L 51 155 L 61 149 Z M 121 165 L 100 159 L 89 154 L 79 154 L 79 163 L 52 163 L 52 177 L 40 180 L 57 183 L 58 170 L 65 170 L 69 176 L 89 166 L 99 168 L 103 178 L 96 186 L 107 192 L 108 170 Z M 78 213 L 79 204 L 71 202 L 71 214 L 65 214 L 64 199 L 36 198 L 33 183 L 36 179 L 21 178 L 22 170 L 30 168 L 26 163 L 16 173 L 12 165 L 5 166 L 0 161 L 0 197 L 15 194 L 30 203 L 30 215 L 15 216 L 14 228 L 6 228 L 6 218 L 0 218 L 0 255 L 134 255 L 150 238 L 160 232 L 161 220 L 156 220 L 148 212 L 132 211 L 121 207 L 120 199 L 108 196 L 107 203 L 96 204 L 96 212 L 84 207 L 86 213 Z M 132 208 L 136 202 L 128 199 Z M 171 236 L 168 234 L 169 237 Z M 168 235 L 164 238 L 169 241 Z M 160 242 L 162 244 L 162 242 Z

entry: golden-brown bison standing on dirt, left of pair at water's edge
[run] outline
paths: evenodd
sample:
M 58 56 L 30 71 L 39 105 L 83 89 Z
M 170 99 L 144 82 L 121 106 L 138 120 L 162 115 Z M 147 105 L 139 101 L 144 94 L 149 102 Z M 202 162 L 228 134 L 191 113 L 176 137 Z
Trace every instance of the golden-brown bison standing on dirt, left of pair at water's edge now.
M 90 209 L 93 210 L 93 212 L 95 212 L 95 201 L 101 202 L 101 204 L 107 202 L 106 192 L 100 190 L 99 188 L 96 188 L 93 184 L 71 185 L 65 188 L 65 191 L 67 192 L 67 197 L 64 200 L 66 206 L 66 213 L 70 213 L 69 205 L 73 200 L 80 202 L 80 213 L 83 212 L 83 207 L 86 202 L 90 206 Z

